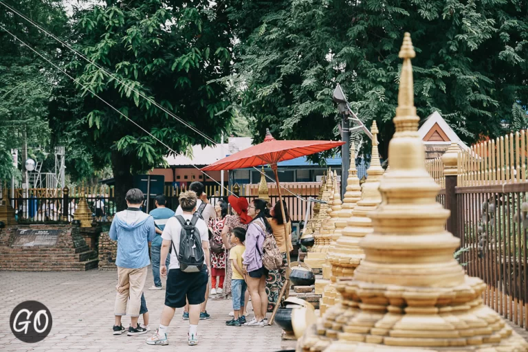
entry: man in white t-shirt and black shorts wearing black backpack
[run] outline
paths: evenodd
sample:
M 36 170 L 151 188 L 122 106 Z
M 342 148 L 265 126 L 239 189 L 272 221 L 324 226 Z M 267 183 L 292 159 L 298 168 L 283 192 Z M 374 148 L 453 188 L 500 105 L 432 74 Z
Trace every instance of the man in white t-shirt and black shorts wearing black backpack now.
M 165 307 L 159 328 L 147 344 L 166 345 L 167 329 L 175 309 L 189 303 L 188 344 L 197 344 L 197 328 L 200 318 L 200 305 L 206 297 L 210 272 L 209 236 L 206 222 L 195 212 L 196 193 L 182 192 L 179 195 L 181 215 L 170 218 L 162 233 L 160 273 L 167 276 Z M 170 265 L 167 274 L 165 260 L 170 252 Z

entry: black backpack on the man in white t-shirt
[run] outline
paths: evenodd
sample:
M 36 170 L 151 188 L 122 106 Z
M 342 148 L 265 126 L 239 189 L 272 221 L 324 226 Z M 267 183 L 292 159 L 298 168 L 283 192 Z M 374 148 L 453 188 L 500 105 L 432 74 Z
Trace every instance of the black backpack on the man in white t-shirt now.
M 179 251 L 176 252 L 179 270 L 182 272 L 200 272 L 205 261 L 205 254 L 201 247 L 200 233 L 196 227 L 199 217 L 195 214 L 190 221 L 186 221 L 184 217 L 177 215 L 176 219 L 181 225 Z M 171 243 L 171 247 L 174 247 L 174 242 Z

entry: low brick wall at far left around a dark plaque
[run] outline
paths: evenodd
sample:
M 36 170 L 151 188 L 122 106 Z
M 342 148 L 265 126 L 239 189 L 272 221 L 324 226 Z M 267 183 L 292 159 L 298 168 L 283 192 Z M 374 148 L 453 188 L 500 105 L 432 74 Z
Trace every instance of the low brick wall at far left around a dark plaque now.
M 59 230 L 53 246 L 11 247 L 17 230 Z M 25 272 L 84 271 L 97 267 L 79 228 L 72 225 L 14 225 L 0 230 L 0 270 Z

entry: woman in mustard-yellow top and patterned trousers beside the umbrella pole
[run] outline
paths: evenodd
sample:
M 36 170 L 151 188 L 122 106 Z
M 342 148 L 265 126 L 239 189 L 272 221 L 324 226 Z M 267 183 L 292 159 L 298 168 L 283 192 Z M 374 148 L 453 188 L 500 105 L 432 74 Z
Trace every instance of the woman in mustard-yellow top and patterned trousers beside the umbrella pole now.
M 289 219 L 288 208 L 286 207 L 286 202 L 283 201 L 285 219 L 283 219 L 283 213 L 281 212 L 281 203 L 276 202 L 272 210 L 270 210 L 271 217 L 267 219 L 273 229 L 273 236 L 275 241 L 277 241 L 278 249 L 281 250 L 283 254 L 283 267 L 279 270 L 272 270 L 270 274 L 267 275 L 266 286 L 268 289 L 268 305 L 267 310 L 272 311 L 278 301 L 278 294 L 280 294 L 281 289 L 286 281 L 286 250 L 292 252 L 294 246 L 292 245 L 292 221 Z M 285 232 L 284 223 L 286 223 Z M 286 248 L 287 246 L 287 248 Z

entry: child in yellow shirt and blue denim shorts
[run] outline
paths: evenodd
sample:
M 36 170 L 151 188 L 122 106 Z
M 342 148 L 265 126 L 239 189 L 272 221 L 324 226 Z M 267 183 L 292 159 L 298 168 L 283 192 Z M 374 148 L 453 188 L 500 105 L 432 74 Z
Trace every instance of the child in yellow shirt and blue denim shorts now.
M 231 268 L 233 274 L 231 276 L 231 295 L 233 298 L 233 314 L 232 320 L 225 322 L 229 327 L 239 327 L 245 324 L 244 314 L 244 294 L 248 289 L 245 283 L 244 274 L 242 271 L 242 255 L 245 251 L 245 230 L 243 228 L 234 228 L 231 232 L 231 243 L 234 247 L 231 248 L 229 260 L 231 261 Z

